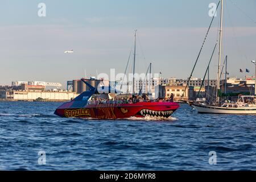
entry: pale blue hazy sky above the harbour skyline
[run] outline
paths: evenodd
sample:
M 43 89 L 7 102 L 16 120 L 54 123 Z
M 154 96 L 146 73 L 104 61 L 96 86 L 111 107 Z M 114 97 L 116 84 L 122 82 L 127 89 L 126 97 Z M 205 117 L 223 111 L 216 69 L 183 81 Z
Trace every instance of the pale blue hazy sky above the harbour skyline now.
M 38 3 L 46 3 L 46 17 Z M 216 0 L 94 0 L 12 1 L 0 6 L 0 84 L 15 80 L 65 81 L 110 68 L 123 72 L 138 29 L 137 72 L 187 78 L 210 23 L 209 3 Z M 239 8 L 237 8 L 239 7 Z M 224 55 L 230 76 L 244 77 L 239 68 L 254 67 L 256 1 L 225 0 Z M 194 76 L 203 77 L 216 41 L 219 14 L 214 20 Z M 73 54 L 64 54 L 74 49 Z M 217 53 L 210 75 L 216 77 Z

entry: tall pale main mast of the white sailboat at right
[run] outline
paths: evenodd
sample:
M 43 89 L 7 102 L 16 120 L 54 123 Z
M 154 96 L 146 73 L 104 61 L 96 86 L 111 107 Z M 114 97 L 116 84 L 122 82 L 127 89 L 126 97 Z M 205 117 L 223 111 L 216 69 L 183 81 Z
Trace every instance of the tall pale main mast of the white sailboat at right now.
M 221 47 L 222 47 L 222 19 L 223 19 L 223 1 L 221 0 L 221 16 L 220 16 L 220 46 L 218 52 L 218 75 L 217 75 L 217 92 L 216 92 L 216 102 L 220 101 L 218 97 L 218 92 L 220 90 L 220 67 L 221 67 Z

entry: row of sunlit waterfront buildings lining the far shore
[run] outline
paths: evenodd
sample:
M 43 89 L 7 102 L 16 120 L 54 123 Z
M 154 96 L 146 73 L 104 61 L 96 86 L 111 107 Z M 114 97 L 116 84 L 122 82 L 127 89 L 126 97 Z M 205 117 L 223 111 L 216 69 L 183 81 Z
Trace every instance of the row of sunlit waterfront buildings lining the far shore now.
M 84 78 L 86 82 L 94 87 L 98 86 L 115 86 L 119 84 L 118 81 L 114 83 L 109 82 L 109 80 L 100 79 L 97 80 L 95 77 L 90 77 L 89 79 Z M 221 82 L 222 93 L 229 94 L 230 97 L 236 98 L 237 94 L 253 94 L 254 93 L 254 83 L 255 77 L 246 76 L 245 79 L 237 79 L 230 77 Z M 128 86 L 128 93 L 131 93 L 131 83 Z M 182 94 L 184 93 L 183 100 L 196 100 L 197 94 L 201 84 L 203 87 L 200 90 L 200 97 L 207 97 L 210 93 L 214 94 L 216 91 L 216 80 L 209 80 L 209 90 L 208 90 L 208 80 L 201 78 L 192 78 L 189 81 L 187 88 L 187 80 L 176 79 L 171 77 L 168 79 L 164 78 L 151 78 L 151 82 L 144 80 L 135 80 L 135 93 L 148 93 L 151 92 L 152 96 L 159 98 L 169 98 L 171 94 L 174 95 L 174 100 L 180 100 Z M 224 87 L 226 85 L 226 88 Z M 13 81 L 11 86 L 0 86 L 0 99 L 1 100 L 14 100 L 14 101 L 67 101 L 79 96 L 80 93 L 85 92 L 89 87 L 79 80 L 72 80 L 67 82 L 67 90 L 51 89 L 47 90 L 47 86 L 53 86 L 59 88 L 60 83 L 55 82 L 44 82 L 44 81 Z M 186 90 L 185 90 L 186 88 Z M 122 90 L 123 93 L 127 93 L 127 90 Z M 185 90 L 185 92 L 184 92 Z M 208 98 L 210 99 L 210 98 Z

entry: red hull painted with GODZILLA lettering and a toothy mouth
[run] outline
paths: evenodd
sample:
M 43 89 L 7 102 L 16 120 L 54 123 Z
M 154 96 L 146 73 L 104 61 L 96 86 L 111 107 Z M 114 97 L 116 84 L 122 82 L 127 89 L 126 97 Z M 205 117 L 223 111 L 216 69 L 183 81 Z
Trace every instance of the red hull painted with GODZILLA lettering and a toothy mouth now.
M 119 119 L 129 117 L 170 117 L 179 104 L 175 102 L 138 102 L 135 104 L 97 104 L 85 107 L 70 107 L 73 103 L 67 102 L 56 109 L 55 114 L 67 118 L 97 118 Z

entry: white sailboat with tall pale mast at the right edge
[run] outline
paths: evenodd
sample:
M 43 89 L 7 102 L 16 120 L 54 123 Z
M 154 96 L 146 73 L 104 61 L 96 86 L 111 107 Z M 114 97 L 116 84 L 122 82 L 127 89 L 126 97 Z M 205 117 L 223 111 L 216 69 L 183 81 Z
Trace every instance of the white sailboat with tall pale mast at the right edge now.
M 221 47 L 222 47 L 222 20 L 223 20 L 224 0 L 221 0 L 220 15 L 220 41 L 219 41 L 219 57 L 218 57 L 218 73 L 217 73 L 217 89 L 216 100 L 212 103 L 205 102 L 189 102 L 199 113 L 216 113 L 216 114 L 256 114 L 256 96 L 238 96 L 236 102 L 221 102 L 220 100 L 220 68 L 221 68 Z M 215 49 L 215 48 L 214 48 Z M 209 65 L 208 65 L 209 69 Z M 255 71 L 256 76 L 256 71 Z M 256 81 L 255 86 L 256 89 Z M 255 91 L 256 95 L 256 91 Z

